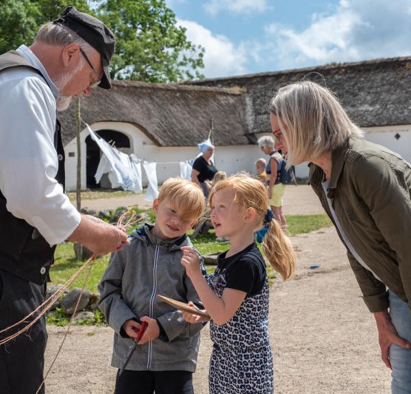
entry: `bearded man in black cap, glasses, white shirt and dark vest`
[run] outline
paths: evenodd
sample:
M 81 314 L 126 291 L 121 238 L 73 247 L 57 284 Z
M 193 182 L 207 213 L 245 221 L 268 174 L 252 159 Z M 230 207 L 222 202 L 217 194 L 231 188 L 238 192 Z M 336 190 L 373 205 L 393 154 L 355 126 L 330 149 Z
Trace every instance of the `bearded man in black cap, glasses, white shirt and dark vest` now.
M 113 53 L 112 32 L 68 7 L 31 47 L 0 56 L 0 330 L 43 302 L 57 244 L 69 239 L 105 254 L 127 243 L 124 231 L 80 215 L 64 194 L 56 118 L 73 96 L 111 87 Z M 42 319 L 0 347 L 1 393 L 36 393 L 46 342 Z

